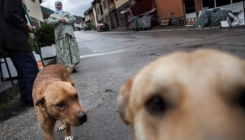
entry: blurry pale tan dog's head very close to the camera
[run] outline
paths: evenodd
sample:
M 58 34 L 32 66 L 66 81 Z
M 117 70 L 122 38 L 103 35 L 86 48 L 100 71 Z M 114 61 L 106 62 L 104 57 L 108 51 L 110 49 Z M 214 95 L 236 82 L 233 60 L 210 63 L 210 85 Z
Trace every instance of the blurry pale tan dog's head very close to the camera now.
M 153 61 L 122 87 L 137 140 L 245 140 L 245 61 L 216 50 Z

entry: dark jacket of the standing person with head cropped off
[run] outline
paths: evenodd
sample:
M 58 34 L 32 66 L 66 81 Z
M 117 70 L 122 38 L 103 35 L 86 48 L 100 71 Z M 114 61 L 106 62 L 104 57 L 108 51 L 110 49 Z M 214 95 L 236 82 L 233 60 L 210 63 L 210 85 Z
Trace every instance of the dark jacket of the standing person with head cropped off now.
M 0 0 L 0 47 L 15 51 L 31 51 L 29 27 L 21 0 Z

